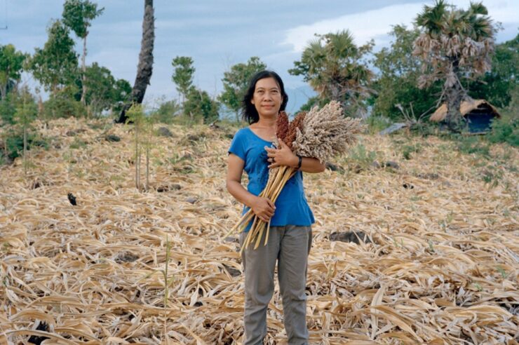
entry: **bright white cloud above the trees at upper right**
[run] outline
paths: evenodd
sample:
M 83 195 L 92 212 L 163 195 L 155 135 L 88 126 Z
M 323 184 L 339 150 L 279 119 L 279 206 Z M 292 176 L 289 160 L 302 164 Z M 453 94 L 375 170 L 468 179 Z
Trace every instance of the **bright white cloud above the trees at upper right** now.
M 449 2 L 461 8 L 467 8 L 470 4 L 469 0 Z M 375 39 L 377 46 L 383 46 L 389 43 L 387 33 L 391 31 L 392 25 L 404 24 L 410 26 L 417 13 L 422 11 L 423 6 L 431 6 L 431 4 L 433 4 L 431 1 L 424 1 L 422 4 L 386 6 L 377 10 L 321 20 L 310 25 L 300 25 L 288 29 L 281 44 L 289 44 L 294 51 L 301 52 L 306 44 L 314 39 L 314 34 L 327 34 L 328 32 L 349 29 L 356 44 L 363 44 L 370 39 Z M 502 22 L 506 26 L 519 26 L 517 15 L 519 13 L 519 1 L 483 0 L 483 4 L 487 6 L 489 15 L 494 21 Z M 515 36 L 517 32 L 511 32 L 511 34 Z M 508 37 L 507 35 L 504 39 L 511 39 L 513 36 Z

